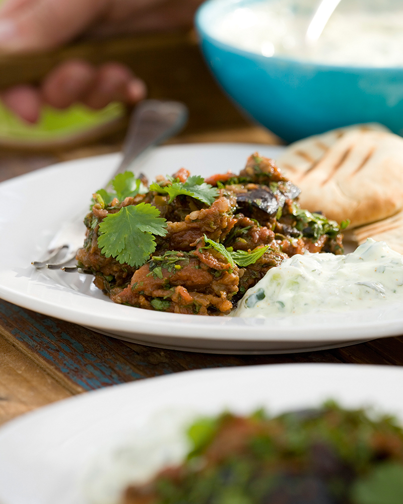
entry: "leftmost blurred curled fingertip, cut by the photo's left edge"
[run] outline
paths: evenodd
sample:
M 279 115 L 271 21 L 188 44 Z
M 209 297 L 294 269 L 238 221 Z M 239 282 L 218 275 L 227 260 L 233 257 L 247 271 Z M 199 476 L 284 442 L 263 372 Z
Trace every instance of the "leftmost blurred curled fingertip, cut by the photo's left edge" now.
M 40 115 L 41 98 L 34 86 L 21 85 L 2 93 L 3 103 L 27 122 L 37 122 Z

